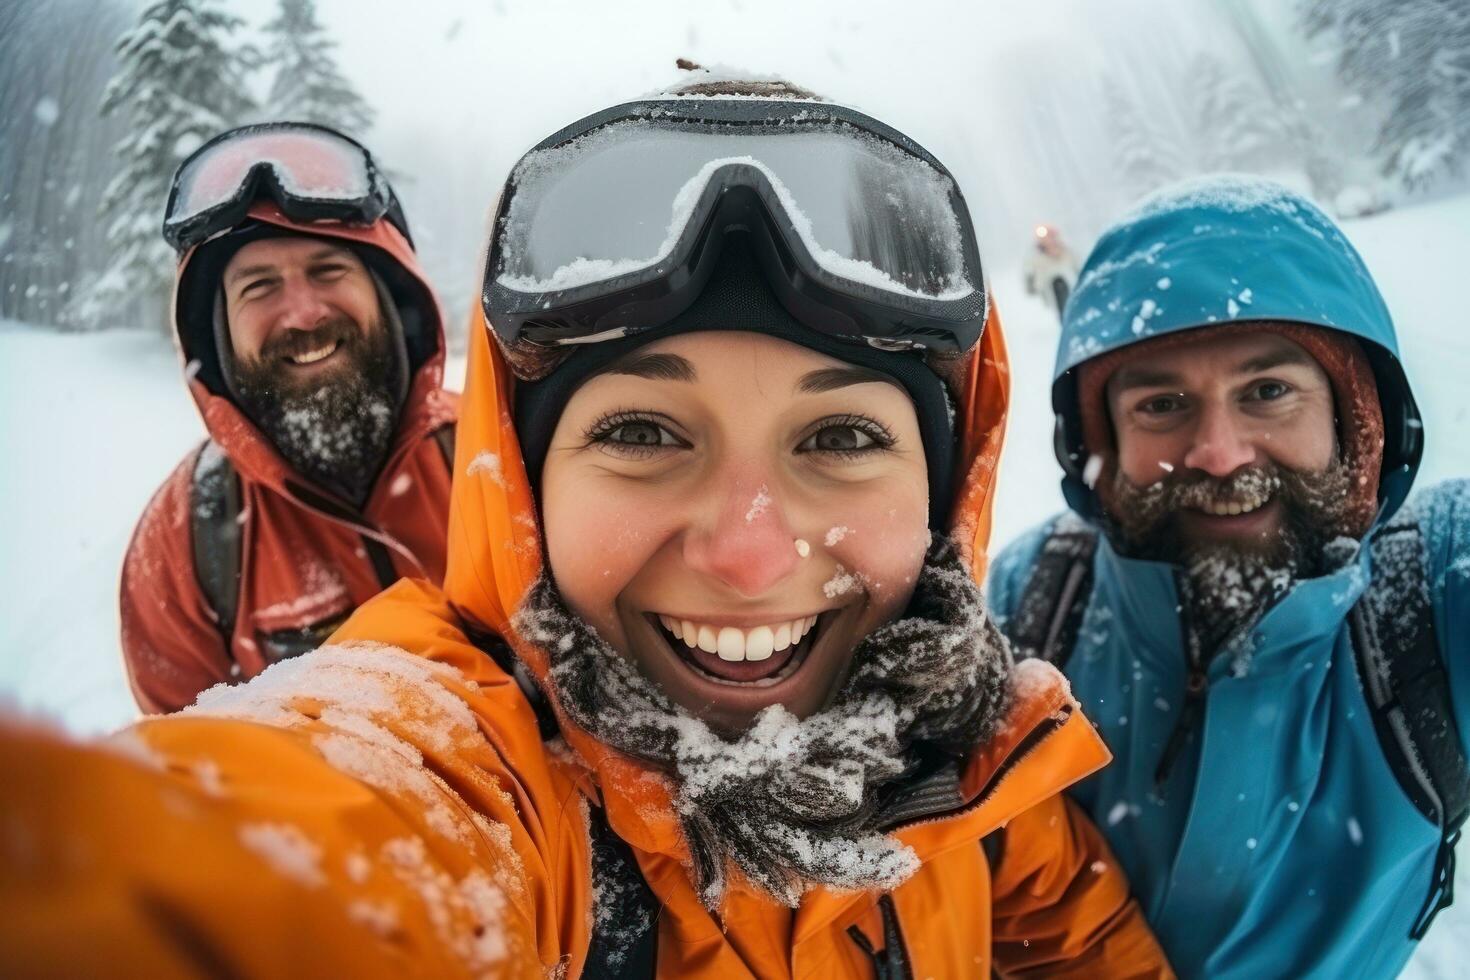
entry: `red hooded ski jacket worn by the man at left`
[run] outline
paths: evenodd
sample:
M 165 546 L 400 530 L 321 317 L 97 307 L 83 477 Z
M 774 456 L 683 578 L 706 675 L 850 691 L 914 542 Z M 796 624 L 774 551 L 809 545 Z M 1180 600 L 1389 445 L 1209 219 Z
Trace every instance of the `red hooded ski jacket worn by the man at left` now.
M 190 392 L 209 441 L 169 475 L 144 510 L 122 569 L 122 649 L 132 693 L 144 711 L 176 711 L 220 682 L 259 674 L 272 663 L 325 641 L 372 595 L 398 580 L 444 577 L 450 469 L 435 433 L 453 430 L 459 398 L 444 391 L 444 328 L 438 301 L 407 239 L 387 220 L 370 228 L 294 225 L 273 204 L 251 217 L 341 238 L 401 272 L 390 288 L 419 313 L 410 344 L 412 379 L 398 429 L 373 489 L 359 510 L 295 473 L 200 360 L 215 359 L 209 325 L 173 331 Z M 194 259 L 179 263 L 178 279 Z M 397 297 L 395 297 L 397 298 Z M 228 460 L 228 464 L 226 464 Z M 238 569 L 232 623 L 220 623 L 193 548 L 196 483 L 210 467 L 238 475 Z M 229 636 L 225 636 L 225 630 Z

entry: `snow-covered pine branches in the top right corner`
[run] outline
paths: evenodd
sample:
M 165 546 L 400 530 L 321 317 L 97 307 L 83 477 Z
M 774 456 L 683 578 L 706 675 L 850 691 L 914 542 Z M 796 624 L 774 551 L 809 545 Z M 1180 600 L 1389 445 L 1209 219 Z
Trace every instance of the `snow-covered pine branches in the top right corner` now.
M 1388 112 L 1377 151 L 1405 188 L 1470 160 L 1470 4 L 1464 0 L 1299 0 L 1308 37 L 1336 46 L 1338 76 Z

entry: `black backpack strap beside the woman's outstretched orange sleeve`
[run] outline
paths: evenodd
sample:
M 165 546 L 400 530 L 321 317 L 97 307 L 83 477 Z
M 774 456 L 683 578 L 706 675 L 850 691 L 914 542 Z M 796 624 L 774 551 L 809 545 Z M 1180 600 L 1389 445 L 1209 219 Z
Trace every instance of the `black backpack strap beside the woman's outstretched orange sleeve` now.
M 469 632 L 469 639 L 507 674 L 537 716 L 542 742 L 562 735 L 556 713 L 529 670 L 495 633 Z M 587 827 L 592 851 L 592 936 L 584 977 L 653 977 L 659 954 L 659 898 L 638 867 L 628 842 L 607 824 L 607 813 L 589 801 Z

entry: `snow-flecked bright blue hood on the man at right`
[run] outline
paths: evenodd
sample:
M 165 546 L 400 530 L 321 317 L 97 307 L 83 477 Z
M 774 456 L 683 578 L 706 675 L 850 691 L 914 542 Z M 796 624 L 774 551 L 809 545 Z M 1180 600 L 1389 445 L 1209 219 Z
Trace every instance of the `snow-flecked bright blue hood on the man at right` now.
M 1250 320 L 1323 326 L 1363 342 L 1383 406 L 1379 520 L 1398 510 L 1419 470 L 1423 425 L 1383 297 L 1317 206 L 1279 184 L 1233 175 L 1145 198 L 1102 234 L 1082 267 L 1063 314 L 1051 386 L 1063 492 L 1073 510 L 1098 513 L 1082 479 L 1075 369 L 1164 334 Z

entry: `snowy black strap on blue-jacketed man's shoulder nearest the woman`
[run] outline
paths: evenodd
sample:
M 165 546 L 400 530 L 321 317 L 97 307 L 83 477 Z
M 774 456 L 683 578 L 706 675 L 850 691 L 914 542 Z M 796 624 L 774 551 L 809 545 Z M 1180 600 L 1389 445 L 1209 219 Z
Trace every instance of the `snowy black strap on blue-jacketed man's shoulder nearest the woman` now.
M 1066 669 L 1092 595 L 1098 532 L 1070 514 L 1058 517 L 1036 554 L 1007 633 L 1022 658 Z

